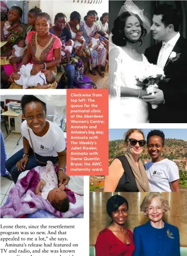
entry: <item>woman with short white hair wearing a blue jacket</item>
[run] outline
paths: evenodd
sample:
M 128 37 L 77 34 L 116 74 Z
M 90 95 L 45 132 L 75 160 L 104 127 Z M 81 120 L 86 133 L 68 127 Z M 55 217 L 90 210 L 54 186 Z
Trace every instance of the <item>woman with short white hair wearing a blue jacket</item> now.
M 163 220 L 169 210 L 168 201 L 161 193 L 146 195 L 140 211 L 149 221 L 133 231 L 135 251 L 132 256 L 180 256 L 179 229 Z

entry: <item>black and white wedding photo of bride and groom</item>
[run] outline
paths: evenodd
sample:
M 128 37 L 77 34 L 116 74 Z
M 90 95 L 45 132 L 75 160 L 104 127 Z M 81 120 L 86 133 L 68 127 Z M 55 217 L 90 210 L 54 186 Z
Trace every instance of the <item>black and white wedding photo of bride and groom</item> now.
M 109 127 L 187 123 L 187 1 L 109 1 Z

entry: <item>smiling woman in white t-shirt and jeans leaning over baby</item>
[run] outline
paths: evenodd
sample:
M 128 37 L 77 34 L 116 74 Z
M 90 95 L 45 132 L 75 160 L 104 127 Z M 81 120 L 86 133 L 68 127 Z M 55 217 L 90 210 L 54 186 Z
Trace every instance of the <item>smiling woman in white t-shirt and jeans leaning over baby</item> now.
M 64 132 L 58 125 L 46 120 L 46 103 L 37 97 L 24 95 L 21 99 L 21 107 L 25 116 L 25 121 L 21 125 L 23 149 L 6 161 L 6 169 L 10 172 L 14 183 L 21 172 L 36 166 L 46 166 L 47 161 L 53 164 L 58 161 L 59 186 L 66 185 L 69 176 L 64 173 L 66 167 Z

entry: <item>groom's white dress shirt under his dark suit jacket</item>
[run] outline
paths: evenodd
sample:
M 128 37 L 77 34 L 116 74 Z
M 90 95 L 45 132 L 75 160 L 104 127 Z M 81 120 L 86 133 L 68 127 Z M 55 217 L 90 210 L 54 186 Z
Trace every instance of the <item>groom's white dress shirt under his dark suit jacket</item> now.
M 167 49 L 165 49 L 164 53 L 163 53 L 163 47 L 161 48 L 161 50 L 159 51 L 157 64 L 159 64 L 159 62 L 161 61 L 161 55 L 162 55 L 162 63 L 164 63 L 164 66 L 165 66 L 167 59 L 170 56 L 170 54 L 172 53 L 172 50 L 173 50 L 174 46 L 176 45 L 177 40 L 179 40 L 179 38 L 180 38 L 180 33 L 178 32 L 176 34 L 176 36 L 174 36 L 170 41 L 162 42 L 162 45 L 164 45 L 164 44 L 167 45 Z M 164 66 L 163 66 L 163 68 L 164 68 Z

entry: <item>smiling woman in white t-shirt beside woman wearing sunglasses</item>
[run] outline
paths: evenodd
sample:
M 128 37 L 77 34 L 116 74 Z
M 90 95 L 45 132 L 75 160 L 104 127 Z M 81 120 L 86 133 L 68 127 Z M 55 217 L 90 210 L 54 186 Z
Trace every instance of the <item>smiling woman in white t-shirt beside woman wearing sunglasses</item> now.
M 146 171 L 152 192 L 180 192 L 179 169 L 177 165 L 162 156 L 165 135 L 162 131 L 152 130 L 147 135 L 148 161 Z

